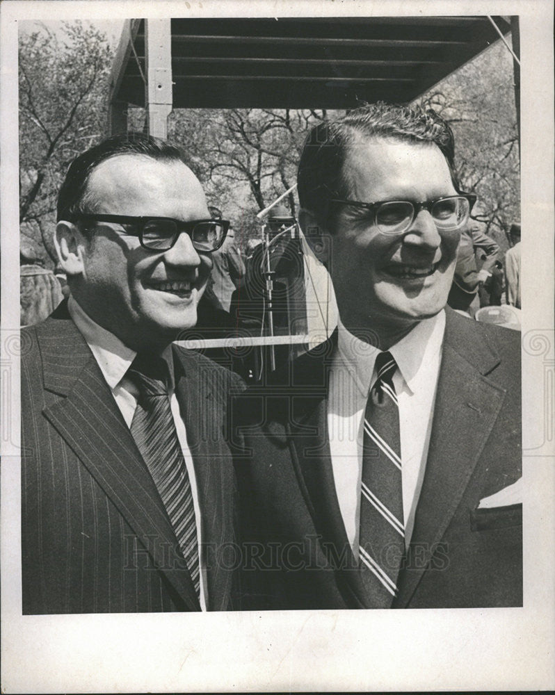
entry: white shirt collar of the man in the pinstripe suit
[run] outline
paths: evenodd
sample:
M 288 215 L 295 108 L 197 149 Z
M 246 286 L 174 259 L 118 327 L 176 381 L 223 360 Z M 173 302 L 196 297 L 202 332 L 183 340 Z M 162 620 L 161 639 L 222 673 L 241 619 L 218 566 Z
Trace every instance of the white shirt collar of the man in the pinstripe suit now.
M 93 321 L 88 313 L 86 313 L 77 301 L 70 295 L 67 302 L 67 310 L 70 316 L 79 329 L 79 332 L 85 338 L 90 351 L 95 356 L 100 371 L 106 379 L 106 383 L 111 389 L 115 389 L 127 373 L 131 366 L 131 362 L 136 357 L 136 350 L 131 350 L 131 347 L 124 345 L 118 336 L 107 331 L 97 322 Z M 175 378 L 173 371 L 172 346 L 168 345 L 166 350 L 162 352 L 161 357 L 168 364 L 170 374 L 170 391 L 174 388 Z

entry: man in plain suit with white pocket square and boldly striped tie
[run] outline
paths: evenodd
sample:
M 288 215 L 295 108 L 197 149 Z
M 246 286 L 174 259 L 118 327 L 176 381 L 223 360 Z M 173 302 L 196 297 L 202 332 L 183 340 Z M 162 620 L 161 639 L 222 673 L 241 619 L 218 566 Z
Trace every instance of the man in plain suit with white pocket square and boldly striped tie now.
M 520 336 L 447 306 L 476 201 L 451 129 L 323 122 L 298 195 L 339 323 L 234 408 L 244 607 L 522 605 Z

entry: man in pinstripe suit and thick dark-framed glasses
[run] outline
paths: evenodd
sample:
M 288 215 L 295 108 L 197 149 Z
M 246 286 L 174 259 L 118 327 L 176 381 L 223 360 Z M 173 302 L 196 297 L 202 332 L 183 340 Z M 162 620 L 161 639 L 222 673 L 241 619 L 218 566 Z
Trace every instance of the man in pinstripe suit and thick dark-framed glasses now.
M 228 227 L 167 142 L 114 136 L 70 166 L 54 238 L 70 297 L 22 331 L 24 614 L 232 607 L 242 386 L 172 345 Z

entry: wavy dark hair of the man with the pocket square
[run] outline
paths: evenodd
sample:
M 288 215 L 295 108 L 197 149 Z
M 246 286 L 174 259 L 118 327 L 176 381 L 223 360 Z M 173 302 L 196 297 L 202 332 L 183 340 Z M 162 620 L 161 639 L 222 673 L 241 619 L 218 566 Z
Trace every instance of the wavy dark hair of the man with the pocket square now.
M 319 222 L 328 221 L 330 198 L 348 195 L 344 164 L 357 134 L 435 143 L 447 160 L 453 186 L 460 190 L 449 125 L 431 109 L 378 101 L 355 108 L 338 120 L 319 123 L 305 140 L 297 174 L 298 197 L 300 206 L 311 211 Z

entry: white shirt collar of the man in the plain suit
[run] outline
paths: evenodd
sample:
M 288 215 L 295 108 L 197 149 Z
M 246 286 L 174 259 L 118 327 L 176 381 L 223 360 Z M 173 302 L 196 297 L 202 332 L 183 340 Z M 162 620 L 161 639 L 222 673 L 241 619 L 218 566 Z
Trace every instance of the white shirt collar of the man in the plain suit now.
M 442 310 L 431 318 L 419 321 L 410 333 L 389 348 L 411 393 L 417 386 L 417 375 L 421 366 L 426 366 L 426 363 L 440 352 L 444 330 L 445 311 Z M 337 355 L 351 373 L 361 393 L 365 395 L 371 386 L 378 352 L 378 347 L 361 341 L 344 327 L 340 318 L 338 319 Z

